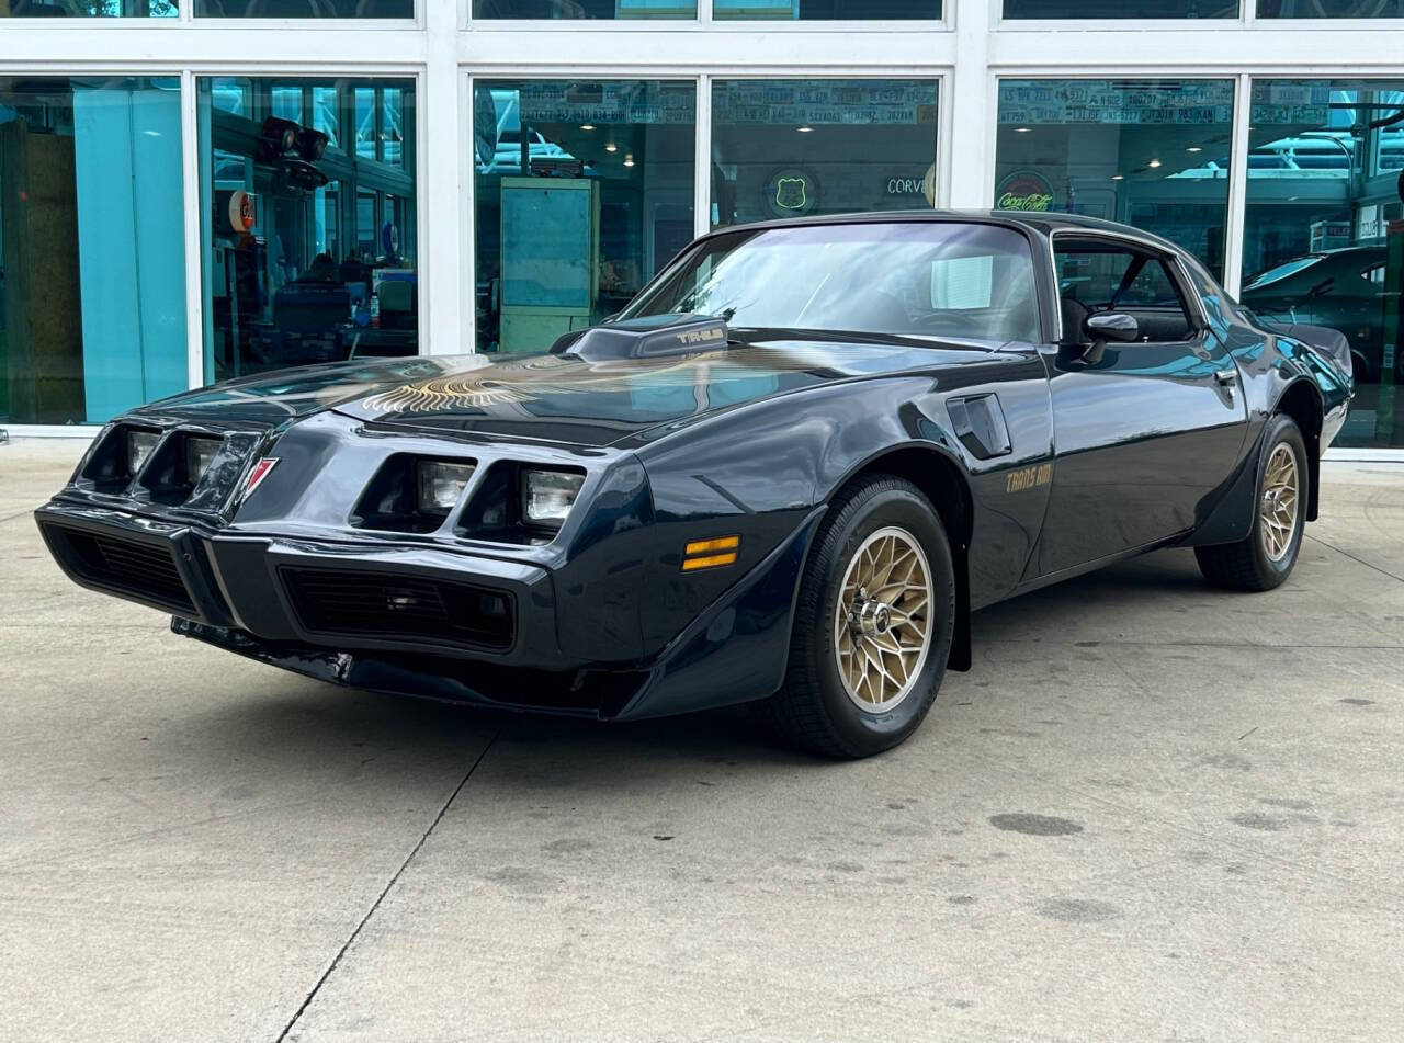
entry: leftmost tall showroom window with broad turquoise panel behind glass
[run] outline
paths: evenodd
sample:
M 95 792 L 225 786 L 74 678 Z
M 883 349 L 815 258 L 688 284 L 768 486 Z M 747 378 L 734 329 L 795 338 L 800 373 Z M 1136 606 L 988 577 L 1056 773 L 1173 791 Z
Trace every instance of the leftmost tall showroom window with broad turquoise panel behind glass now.
M 180 81 L 0 80 L 0 420 L 187 387 Z

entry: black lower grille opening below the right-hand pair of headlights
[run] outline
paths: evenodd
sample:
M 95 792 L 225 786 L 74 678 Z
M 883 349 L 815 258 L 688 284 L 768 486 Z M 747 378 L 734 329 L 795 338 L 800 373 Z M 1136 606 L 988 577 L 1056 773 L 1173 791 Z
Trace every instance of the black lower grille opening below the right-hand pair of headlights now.
M 382 571 L 281 571 L 293 611 L 310 633 L 484 649 L 507 649 L 512 643 L 508 594 Z

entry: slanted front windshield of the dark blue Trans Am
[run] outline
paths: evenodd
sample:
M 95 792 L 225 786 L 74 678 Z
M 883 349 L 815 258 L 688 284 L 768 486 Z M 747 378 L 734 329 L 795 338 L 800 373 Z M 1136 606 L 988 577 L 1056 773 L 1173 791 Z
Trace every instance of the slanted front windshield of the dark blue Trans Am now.
M 734 328 L 1039 340 L 1033 258 L 1012 229 L 959 222 L 736 232 L 685 254 L 622 314 Z

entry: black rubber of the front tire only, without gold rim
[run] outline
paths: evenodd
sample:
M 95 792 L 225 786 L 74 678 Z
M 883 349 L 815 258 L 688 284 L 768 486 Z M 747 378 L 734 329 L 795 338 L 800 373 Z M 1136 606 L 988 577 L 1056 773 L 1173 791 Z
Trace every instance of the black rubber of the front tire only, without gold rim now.
M 845 689 L 834 623 L 849 563 L 873 533 L 889 528 L 910 533 L 925 553 L 929 646 L 907 693 L 876 713 L 859 709 Z M 900 744 L 921 724 L 941 686 L 955 632 L 955 590 L 945 528 L 921 490 L 889 474 L 855 480 L 834 497 L 814 536 L 795 606 L 785 686 L 757 707 L 761 717 L 783 740 L 827 757 L 870 757 Z

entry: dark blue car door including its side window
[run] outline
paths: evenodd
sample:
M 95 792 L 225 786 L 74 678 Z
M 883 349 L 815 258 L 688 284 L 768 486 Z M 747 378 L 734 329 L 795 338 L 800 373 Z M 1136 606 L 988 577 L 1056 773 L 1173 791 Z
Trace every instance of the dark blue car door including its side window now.
M 1053 477 L 1026 580 L 1193 528 L 1234 470 L 1247 431 L 1238 371 L 1179 261 L 1102 233 L 1056 233 L 1063 337 L 1045 350 Z M 1098 312 L 1137 320 L 1134 343 L 1088 345 Z

